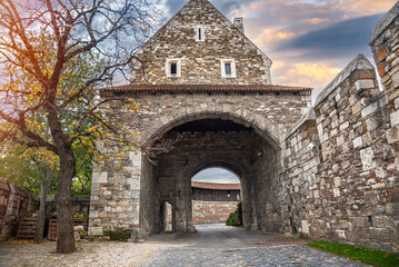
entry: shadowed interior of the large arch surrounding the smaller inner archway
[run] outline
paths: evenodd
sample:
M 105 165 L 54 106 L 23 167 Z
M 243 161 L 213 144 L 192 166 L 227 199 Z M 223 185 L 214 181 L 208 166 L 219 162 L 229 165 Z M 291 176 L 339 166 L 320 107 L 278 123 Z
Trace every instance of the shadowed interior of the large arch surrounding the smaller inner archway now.
M 164 128 L 164 127 L 163 127 Z M 158 156 L 157 165 L 142 161 L 140 228 L 146 234 L 163 230 L 161 204 L 172 206 L 172 230 L 192 229 L 191 179 L 209 168 L 223 168 L 240 179 L 242 224 L 247 229 L 278 231 L 281 227 L 276 184 L 280 179 L 280 150 L 250 125 L 223 117 L 186 119 L 162 132 L 181 136 L 172 150 Z

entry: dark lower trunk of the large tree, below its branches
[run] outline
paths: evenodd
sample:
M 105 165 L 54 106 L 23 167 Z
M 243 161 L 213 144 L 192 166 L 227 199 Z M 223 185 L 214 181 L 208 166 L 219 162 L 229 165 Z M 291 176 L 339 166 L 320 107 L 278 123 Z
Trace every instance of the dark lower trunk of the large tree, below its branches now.
M 76 250 L 73 236 L 72 178 L 76 175 L 76 160 L 70 146 L 64 146 L 59 154 L 60 171 L 57 187 L 57 219 L 59 222 L 59 236 L 57 239 L 57 253 L 72 253 Z

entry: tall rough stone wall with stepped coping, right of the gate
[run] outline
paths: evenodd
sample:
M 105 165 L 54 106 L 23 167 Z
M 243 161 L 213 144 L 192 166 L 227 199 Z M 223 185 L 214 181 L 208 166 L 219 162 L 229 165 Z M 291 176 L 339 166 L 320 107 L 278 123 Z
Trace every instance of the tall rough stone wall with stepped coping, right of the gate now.
M 285 231 L 399 251 L 399 3 L 289 131 Z

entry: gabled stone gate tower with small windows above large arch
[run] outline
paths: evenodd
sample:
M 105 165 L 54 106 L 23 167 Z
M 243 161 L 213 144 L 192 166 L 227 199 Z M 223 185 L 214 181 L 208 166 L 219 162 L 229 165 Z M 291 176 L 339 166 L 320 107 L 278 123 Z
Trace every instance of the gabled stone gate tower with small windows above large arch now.
M 223 167 L 241 179 L 245 225 L 279 230 L 275 188 L 282 176 L 283 136 L 311 107 L 310 88 L 271 85 L 271 60 L 207 0 L 191 0 L 137 53 L 133 85 L 104 88 L 102 98 L 127 96 L 141 106 L 148 144 L 184 132 L 176 148 L 152 165 L 130 152 L 116 160 L 131 174 L 99 166 L 92 180 L 91 234 L 133 228 L 161 229 L 161 206 L 173 207 L 173 230 L 191 226 L 190 179 Z

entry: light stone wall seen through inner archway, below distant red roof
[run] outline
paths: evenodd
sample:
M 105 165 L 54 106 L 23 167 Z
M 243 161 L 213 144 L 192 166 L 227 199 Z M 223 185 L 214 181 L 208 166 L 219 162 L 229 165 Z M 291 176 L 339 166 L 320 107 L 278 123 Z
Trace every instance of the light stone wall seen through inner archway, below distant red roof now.
M 192 200 L 192 224 L 226 222 L 237 209 L 237 201 Z

